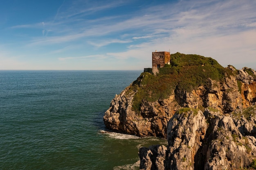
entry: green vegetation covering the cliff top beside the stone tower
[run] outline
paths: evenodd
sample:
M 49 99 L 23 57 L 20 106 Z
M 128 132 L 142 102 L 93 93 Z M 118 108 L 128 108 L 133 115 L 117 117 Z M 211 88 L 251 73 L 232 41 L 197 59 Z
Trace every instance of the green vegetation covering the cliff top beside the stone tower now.
M 208 78 L 223 81 L 225 75 L 233 74 L 228 68 L 222 67 L 211 57 L 203 57 L 195 54 L 171 54 L 170 65 L 159 68 L 155 76 L 150 73 L 141 73 L 133 82 L 130 90 L 137 90 L 133 99 L 132 109 L 140 113 L 140 105 L 143 99 L 155 102 L 158 99 L 166 99 L 175 89 L 191 92 L 198 86 L 207 83 Z

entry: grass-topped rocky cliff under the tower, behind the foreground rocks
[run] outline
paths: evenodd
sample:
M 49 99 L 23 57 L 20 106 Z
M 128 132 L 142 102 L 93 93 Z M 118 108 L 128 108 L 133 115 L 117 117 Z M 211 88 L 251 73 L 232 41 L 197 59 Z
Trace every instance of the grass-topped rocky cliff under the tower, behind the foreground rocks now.
M 107 128 L 140 137 L 166 137 L 167 122 L 180 108 L 211 107 L 231 113 L 256 102 L 254 70 L 223 68 L 198 55 L 175 57 L 172 67 L 161 68 L 156 76 L 142 73 L 115 96 L 103 117 Z

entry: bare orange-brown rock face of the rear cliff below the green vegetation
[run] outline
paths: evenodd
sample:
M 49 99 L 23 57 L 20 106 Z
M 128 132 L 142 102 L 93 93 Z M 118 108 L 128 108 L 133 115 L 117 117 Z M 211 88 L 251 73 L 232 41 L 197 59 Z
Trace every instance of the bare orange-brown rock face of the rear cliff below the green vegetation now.
M 243 73 L 249 76 L 248 73 L 244 71 Z M 140 82 L 144 76 L 141 75 L 137 82 Z M 140 137 L 166 137 L 167 122 L 180 108 L 203 110 L 211 107 L 221 110 L 222 113 L 231 113 L 236 109 L 251 106 L 256 100 L 256 82 L 248 82 L 248 79 L 237 80 L 236 77 L 239 76 L 240 74 L 226 76 L 222 82 L 208 78 L 206 84 L 192 91 L 177 87 L 167 99 L 158 99 L 155 102 L 142 99 L 139 114 L 132 109 L 137 89 L 131 90 L 134 86 L 131 84 L 112 100 L 110 108 L 103 117 L 104 123 L 112 130 Z

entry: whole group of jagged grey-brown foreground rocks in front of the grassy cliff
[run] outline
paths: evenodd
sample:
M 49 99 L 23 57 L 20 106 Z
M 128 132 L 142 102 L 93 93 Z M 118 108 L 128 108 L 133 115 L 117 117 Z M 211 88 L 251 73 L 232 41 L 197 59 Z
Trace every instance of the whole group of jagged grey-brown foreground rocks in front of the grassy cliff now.
M 237 170 L 248 167 L 256 159 L 256 139 L 250 134 L 243 135 L 236 125 L 238 122 L 234 123 L 229 114 L 219 111 L 206 109 L 203 114 L 201 110 L 181 109 L 168 122 L 166 155 L 152 154 L 146 160 L 155 160 L 154 155 L 157 159 L 162 157 L 164 168 L 159 170 Z M 143 148 L 139 155 L 145 155 L 148 150 L 153 153 L 152 148 Z M 141 160 L 145 157 L 140 156 Z M 141 167 L 146 170 L 148 167 L 143 162 L 145 159 L 141 161 Z

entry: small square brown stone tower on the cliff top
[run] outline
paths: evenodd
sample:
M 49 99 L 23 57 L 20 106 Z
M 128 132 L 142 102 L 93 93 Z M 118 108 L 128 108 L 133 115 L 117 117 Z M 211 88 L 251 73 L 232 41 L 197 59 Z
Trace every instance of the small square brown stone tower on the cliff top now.
M 152 72 L 158 73 L 157 68 L 164 67 L 164 64 L 170 64 L 170 52 L 152 52 Z

